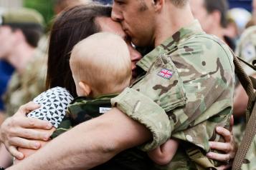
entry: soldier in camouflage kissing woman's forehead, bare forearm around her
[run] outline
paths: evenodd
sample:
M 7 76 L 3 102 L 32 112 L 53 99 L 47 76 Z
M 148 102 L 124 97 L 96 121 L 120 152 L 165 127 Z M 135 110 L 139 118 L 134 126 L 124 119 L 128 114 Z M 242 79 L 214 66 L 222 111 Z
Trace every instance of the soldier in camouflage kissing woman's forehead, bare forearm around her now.
M 186 151 L 191 144 L 205 155 L 209 140 L 219 140 L 215 127 L 229 120 L 234 66 L 227 45 L 202 31 L 186 0 L 114 1 L 112 17 L 133 44 L 155 47 L 138 61 L 141 76 L 111 101 L 116 108 L 62 134 L 13 169 L 90 169 L 133 146 L 154 149 L 170 136 L 187 147 L 156 169 L 215 166 L 212 160 L 191 160 Z M 223 159 L 228 160 L 229 155 Z

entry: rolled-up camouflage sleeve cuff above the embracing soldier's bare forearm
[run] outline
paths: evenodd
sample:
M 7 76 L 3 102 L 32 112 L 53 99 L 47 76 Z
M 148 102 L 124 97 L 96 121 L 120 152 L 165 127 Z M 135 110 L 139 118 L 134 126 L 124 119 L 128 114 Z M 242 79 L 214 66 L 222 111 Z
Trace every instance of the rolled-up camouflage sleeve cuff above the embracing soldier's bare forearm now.
M 153 141 L 141 146 L 143 151 L 156 148 L 170 138 L 171 127 L 168 116 L 158 104 L 147 96 L 127 88 L 119 96 L 112 99 L 111 103 L 151 131 Z

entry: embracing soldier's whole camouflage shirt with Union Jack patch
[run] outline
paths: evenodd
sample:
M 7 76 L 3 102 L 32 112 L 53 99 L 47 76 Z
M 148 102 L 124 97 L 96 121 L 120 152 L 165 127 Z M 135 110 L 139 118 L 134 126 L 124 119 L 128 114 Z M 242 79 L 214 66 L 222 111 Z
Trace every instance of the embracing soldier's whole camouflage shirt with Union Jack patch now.
M 170 164 L 155 169 L 206 169 L 221 164 L 191 161 L 186 146 L 196 146 L 205 155 L 210 151 L 209 141 L 221 140 L 216 127 L 229 127 L 234 65 L 227 44 L 205 34 L 194 21 L 137 65 L 145 74 L 111 103 L 152 132 L 153 141 L 141 146 L 143 151 L 156 148 L 170 137 L 181 140 L 182 147 Z

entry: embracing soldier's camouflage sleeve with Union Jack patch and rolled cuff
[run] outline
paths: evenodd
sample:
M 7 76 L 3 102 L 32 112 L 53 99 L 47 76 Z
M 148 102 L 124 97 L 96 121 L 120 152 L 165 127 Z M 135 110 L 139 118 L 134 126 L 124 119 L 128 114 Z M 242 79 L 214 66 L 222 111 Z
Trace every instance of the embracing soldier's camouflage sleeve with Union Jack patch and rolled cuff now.
M 170 138 L 172 128 L 166 111 L 184 106 L 186 96 L 174 64 L 161 55 L 141 81 L 125 89 L 111 103 L 152 132 L 153 141 L 141 147 L 148 151 Z

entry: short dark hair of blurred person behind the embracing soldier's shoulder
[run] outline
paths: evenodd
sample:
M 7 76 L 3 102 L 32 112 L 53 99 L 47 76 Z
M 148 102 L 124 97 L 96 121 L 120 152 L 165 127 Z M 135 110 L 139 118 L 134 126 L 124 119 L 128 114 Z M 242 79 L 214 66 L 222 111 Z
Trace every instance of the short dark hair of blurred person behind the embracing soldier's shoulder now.
M 211 14 L 213 11 L 219 11 L 221 14 L 221 25 L 223 28 L 227 26 L 227 11 L 229 4 L 227 0 L 204 0 L 204 7 Z

